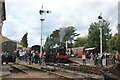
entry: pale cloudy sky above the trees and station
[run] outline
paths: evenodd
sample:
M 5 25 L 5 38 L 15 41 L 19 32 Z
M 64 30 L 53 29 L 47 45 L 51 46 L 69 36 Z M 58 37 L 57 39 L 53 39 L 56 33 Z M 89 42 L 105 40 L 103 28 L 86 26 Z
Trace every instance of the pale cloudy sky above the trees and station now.
M 89 25 L 98 21 L 100 13 L 110 22 L 112 33 L 117 32 L 119 0 L 6 0 L 6 21 L 2 34 L 20 41 L 28 32 L 29 47 L 40 44 L 40 14 L 44 10 L 43 39 L 60 27 L 74 26 L 80 36 L 88 34 Z M 44 43 L 43 42 L 43 43 Z

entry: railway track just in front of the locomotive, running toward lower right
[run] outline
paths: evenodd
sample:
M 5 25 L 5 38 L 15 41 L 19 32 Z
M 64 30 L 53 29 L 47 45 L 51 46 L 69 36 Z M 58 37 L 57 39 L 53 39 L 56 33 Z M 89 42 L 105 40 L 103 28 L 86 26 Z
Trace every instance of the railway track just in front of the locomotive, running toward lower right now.
M 73 72 L 81 72 L 86 74 L 94 74 L 94 75 L 102 75 L 101 69 L 98 67 L 91 67 L 87 65 L 79 65 L 79 64 L 63 64 L 63 63 L 48 63 L 48 66 L 53 66 L 60 69 L 70 70 Z

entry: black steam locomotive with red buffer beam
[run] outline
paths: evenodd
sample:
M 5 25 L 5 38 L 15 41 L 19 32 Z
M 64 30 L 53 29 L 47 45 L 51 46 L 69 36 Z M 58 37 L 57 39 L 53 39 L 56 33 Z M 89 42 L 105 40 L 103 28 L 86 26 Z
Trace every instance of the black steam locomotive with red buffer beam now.
M 56 48 L 49 49 L 46 54 L 47 62 L 68 62 L 69 55 L 66 54 L 66 47 L 64 44 Z

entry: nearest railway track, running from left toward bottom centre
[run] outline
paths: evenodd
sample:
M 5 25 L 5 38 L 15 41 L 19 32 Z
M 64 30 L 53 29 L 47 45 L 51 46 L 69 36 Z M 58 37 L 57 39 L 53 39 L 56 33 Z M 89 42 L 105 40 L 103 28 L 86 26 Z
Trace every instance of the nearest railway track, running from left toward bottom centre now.
M 50 68 L 43 68 L 43 67 L 31 67 L 27 65 L 11 65 L 12 68 L 17 69 L 18 71 L 29 74 L 31 72 L 47 72 L 50 75 L 54 75 L 57 78 L 64 79 L 64 80 L 74 80 L 75 78 L 81 78 L 83 79 L 83 76 L 80 75 L 73 75 L 72 73 L 66 73 L 64 71 L 59 71 L 56 69 L 50 69 Z M 76 76 L 76 77 L 75 77 Z

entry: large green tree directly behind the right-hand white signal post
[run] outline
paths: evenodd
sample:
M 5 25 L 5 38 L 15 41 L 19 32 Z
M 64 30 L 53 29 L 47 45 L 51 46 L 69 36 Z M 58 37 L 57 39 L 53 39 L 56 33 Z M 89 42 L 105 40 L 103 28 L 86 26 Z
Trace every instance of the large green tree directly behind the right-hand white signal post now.
M 108 41 L 110 40 L 110 29 L 109 22 L 105 21 L 102 26 L 99 23 L 94 22 L 90 25 L 88 30 L 88 39 L 87 42 L 91 47 L 96 47 L 100 51 L 100 30 L 102 27 L 102 47 L 103 51 L 108 51 L 109 45 Z

